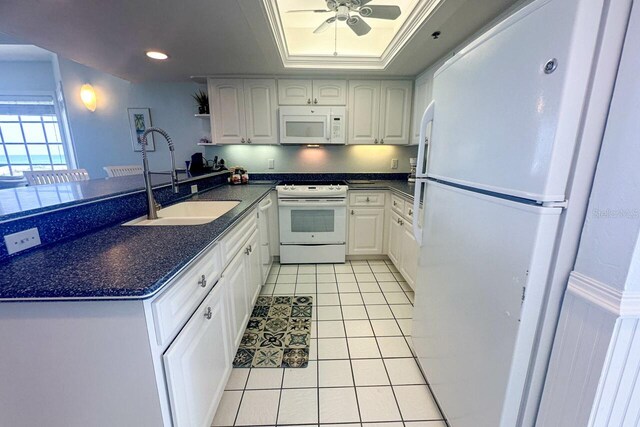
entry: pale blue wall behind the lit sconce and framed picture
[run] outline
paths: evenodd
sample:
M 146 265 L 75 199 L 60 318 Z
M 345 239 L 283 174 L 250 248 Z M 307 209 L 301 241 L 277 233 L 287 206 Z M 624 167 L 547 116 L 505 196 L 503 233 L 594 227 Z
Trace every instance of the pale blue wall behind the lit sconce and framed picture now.
M 78 167 L 87 169 L 91 177 L 104 177 L 103 166 L 141 162 L 141 154 L 133 151 L 127 108 L 150 108 L 152 124 L 165 129 L 175 142 L 178 167 L 183 167 L 191 154 L 202 151 L 196 143 L 208 130 L 193 116 L 191 98 L 200 85 L 133 84 L 64 58 L 59 58 L 59 63 Z M 85 83 L 96 91 L 95 112 L 87 110 L 80 100 L 80 87 Z M 155 141 L 156 151 L 149 154 L 150 167 L 167 170 L 168 146 L 159 135 Z

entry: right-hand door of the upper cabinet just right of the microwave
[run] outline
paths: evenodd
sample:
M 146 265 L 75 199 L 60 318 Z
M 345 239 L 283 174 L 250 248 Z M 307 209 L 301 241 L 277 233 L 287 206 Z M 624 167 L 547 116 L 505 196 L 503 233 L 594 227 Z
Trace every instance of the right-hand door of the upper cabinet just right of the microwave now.
M 409 144 L 411 119 L 411 88 L 409 80 L 383 80 L 380 92 L 381 144 Z

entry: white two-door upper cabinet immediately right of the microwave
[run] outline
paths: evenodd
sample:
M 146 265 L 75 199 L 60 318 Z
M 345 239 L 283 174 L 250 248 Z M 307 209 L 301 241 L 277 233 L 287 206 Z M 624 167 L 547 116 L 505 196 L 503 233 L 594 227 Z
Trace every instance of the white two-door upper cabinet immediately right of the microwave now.
M 406 145 L 412 82 L 349 81 L 349 144 Z

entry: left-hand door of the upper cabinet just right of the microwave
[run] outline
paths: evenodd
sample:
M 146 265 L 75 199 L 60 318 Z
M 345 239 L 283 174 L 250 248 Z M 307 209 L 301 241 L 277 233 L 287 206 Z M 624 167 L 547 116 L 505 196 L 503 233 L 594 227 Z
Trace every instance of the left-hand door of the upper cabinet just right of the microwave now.
M 380 120 L 380 81 L 349 81 L 349 144 L 374 144 Z

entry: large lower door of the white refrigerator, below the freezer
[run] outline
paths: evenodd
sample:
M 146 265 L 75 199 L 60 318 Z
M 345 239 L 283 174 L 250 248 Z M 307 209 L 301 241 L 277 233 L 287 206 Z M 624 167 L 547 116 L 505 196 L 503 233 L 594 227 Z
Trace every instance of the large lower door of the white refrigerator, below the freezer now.
M 427 182 L 413 343 L 451 427 L 518 425 L 560 214 Z

